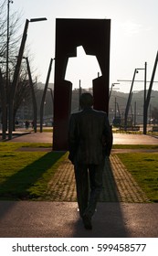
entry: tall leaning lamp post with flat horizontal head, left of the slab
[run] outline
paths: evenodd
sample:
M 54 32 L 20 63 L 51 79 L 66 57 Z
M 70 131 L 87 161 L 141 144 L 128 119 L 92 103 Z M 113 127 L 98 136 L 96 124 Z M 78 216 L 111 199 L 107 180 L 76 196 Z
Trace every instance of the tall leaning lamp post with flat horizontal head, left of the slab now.
M 23 53 L 24 53 L 24 48 L 26 45 L 26 37 L 27 37 L 27 29 L 28 29 L 28 24 L 29 22 L 38 22 L 38 21 L 44 21 L 47 20 L 46 17 L 41 17 L 41 18 L 31 18 L 30 20 L 26 19 L 26 25 L 24 28 L 23 32 L 23 37 L 21 40 L 21 45 L 19 48 L 19 53 L 17 56 L 17 61 L 16 61 L 16 69 L 14 73 L 14 79 L 12 86 L 10 88 L 10 95 L 9 95 L 9 130 L 8 130 L 8 139 L 12 139 L 12 132 L 13 132 L 13 108 L 14 108 L 14 96 L 15 96 L 15 91 L 16 91 L 16 84 L 20 72 L 20 67 L 21 67 L 21 61 L 23 59 Z

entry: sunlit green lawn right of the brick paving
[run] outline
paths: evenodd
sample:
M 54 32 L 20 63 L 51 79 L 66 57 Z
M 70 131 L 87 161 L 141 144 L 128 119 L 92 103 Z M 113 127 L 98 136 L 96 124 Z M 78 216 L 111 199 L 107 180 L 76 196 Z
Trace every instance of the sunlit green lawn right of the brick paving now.
M 153 153 L 119 154 L 118 157 L 132 174 L 146 196 L 158 202 L 158 155 Z

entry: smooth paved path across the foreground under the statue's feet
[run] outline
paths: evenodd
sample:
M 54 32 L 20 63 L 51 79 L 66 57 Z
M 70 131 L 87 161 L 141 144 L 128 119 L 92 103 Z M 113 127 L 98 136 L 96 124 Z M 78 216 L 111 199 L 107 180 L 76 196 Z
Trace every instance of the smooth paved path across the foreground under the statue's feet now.
M 4 238 L 158 237 L 156 204 L 99 203 L 93 229 L 85 230 L 75 202 L 0 202 Z

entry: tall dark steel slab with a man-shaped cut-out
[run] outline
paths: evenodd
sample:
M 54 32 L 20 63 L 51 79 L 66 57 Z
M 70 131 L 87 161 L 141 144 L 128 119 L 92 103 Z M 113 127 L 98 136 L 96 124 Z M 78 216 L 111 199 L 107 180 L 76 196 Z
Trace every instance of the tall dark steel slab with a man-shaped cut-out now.
M 98 59 L 102 74 L 93 80 L 94 109 L 108 112 L 110 34 L 110 19 L 56 20 L 53 150 L 68 150 L 72 83 L 65 80 L 65 74 L 68 58 L 77 56 L 79 46 Z

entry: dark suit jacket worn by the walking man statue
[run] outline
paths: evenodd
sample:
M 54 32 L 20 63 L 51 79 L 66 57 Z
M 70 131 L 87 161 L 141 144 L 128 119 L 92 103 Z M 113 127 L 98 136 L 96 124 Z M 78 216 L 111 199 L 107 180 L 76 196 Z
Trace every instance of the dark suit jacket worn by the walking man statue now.
M 112 134 L 107 113 L 92 108 L 72 113 L 68 129 L 69 160 L 100 165 L 111 154 Z

